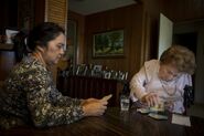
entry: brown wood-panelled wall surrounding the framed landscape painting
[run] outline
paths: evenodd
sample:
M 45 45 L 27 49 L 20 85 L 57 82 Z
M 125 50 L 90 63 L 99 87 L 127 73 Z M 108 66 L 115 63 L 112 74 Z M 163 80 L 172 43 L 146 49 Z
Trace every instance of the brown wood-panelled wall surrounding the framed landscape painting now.
M 128 71 L 129 79 L 140 69 L 143 6 L 133 4 L 86 17 L 85 63 L 101 64 L 110 70 Z M 125 30 L 125 57 L 93 57 L 93 34 Z

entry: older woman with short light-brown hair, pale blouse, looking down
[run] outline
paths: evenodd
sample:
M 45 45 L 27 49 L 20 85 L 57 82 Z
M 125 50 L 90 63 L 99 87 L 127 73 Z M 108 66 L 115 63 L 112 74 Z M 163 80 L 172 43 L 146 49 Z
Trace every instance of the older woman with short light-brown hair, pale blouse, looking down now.
M 130 82 L 132 101 L 148 106 L 164 102 L 173 113 L 183 113 L 184 86 L 192 86 L 191 75 L 195 70 L 195 56 L 181 45 L 172 45 L 160 60 L 150 60 L 133 75 Z

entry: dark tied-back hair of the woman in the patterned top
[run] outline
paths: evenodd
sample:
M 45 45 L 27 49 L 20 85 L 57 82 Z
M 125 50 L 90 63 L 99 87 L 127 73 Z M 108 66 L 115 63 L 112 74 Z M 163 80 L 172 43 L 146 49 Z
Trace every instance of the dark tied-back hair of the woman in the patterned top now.
M 13 39 L 17 62 L 29 52 L 33 52 L 37 45 L 46 48 L 47 43 L 61 33 L 64 34 L 64 29 L 53 22 L 40 23 L 29 34 L 20 31 Z

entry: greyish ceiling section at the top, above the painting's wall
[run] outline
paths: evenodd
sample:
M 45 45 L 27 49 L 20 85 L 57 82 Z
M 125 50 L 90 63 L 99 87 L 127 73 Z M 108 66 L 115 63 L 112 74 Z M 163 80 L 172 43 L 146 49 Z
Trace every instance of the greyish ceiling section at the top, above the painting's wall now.
M 68 9 L 88 15 L 137 3 L 136 0 L 68 0 Z

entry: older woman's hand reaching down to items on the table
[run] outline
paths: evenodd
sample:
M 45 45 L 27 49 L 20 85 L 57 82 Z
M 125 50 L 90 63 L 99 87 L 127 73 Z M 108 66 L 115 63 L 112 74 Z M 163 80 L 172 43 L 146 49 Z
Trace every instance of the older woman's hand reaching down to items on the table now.
M 141 98 L 142 103 L 147 103 L 148 106 L 155 106 L 160 103 L 159 97 L 155 93 L 150 92 Z

